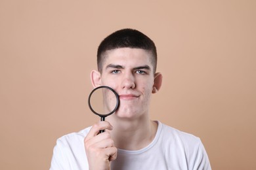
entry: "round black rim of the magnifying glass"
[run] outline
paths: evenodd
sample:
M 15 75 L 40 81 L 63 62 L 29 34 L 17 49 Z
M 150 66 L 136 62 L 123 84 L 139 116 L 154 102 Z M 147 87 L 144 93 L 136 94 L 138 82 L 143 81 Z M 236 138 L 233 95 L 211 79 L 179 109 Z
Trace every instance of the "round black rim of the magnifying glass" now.
M 96 90 L 100 89 L 100 88 L 107 88 L 108 90 L 111 90 L 115 95 L 116 95 L 116 107 L 114 108 L 114 110 L 112 110 L 110 113 L 108 114 L 99 114 L 98 112 L 96 112 L 95 110 L 93 110 L 93 107 L 91 107 L 91 95 L 93 95 L 93 92 L 95 92 Z M 110 114 L 113 114 L 114 112 L 116 112 L 117 108 L 119 107 L 119 95 L 116 93 L 116 91 L 112 88 L 110 88 L 109 86 L 98 86 L 96 87 L 95 89 L 93 89 L 93 91 L 91 91 L 89 97 L 88 97 L 88 105 L 89 105 L 89 108 L 91 109 L 91 111 L 102 117 L 102 118 L 105 118 L 106 116 L 110 116 Z

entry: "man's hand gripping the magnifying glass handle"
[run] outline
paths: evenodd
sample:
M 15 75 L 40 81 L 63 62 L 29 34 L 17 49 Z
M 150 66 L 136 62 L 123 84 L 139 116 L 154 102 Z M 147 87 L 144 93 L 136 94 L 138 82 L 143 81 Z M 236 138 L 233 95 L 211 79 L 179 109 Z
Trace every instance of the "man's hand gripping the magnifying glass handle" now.
M 113 127 L 109 122 L 98 122 L 93 125 L 85 137 L 85 152 L 90 170 L 109 170 L 110 161 L 116 160 L 117 148 L 114 146 L 110 133 L 105 131 L 98 134 L 103 129 L 112 130 Z

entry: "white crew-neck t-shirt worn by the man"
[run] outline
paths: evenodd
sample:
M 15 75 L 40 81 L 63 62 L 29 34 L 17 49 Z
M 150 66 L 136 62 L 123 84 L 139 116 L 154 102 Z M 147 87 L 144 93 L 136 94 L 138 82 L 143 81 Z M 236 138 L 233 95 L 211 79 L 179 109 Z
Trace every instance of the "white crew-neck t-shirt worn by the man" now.
M 83 140 L 91 127 L 64 135 L 53 150 L 51 170 L 89 169 Z M 211 169 L 207 153 L 198 137 L 158 122 L 156 137 L 140 150 L 117 150 L 111 169 Z

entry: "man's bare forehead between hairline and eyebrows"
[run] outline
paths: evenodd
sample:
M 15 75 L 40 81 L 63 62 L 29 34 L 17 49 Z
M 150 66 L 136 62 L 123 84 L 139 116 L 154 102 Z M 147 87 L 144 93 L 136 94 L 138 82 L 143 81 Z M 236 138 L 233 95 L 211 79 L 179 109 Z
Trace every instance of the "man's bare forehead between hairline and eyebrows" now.
M 135 66 L 149 65 L 153 69 L 152 53 L 148 50 L 140 48 L 116 48 L 114 50 L 108 50 L 104 54 L 104 61 L 102 63 L 102 69 L 110 63 Z

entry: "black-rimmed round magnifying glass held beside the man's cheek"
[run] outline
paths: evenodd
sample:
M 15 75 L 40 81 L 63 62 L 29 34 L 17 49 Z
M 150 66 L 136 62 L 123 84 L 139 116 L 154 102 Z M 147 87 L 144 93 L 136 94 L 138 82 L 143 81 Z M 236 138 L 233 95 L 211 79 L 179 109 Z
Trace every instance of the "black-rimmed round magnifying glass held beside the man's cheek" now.
M 119 95 L 108 86 L 98 86 L 90 93 L 88 105 L 94 114 L 100 116 L 100 121 L 104 121 L 106 116 L 116 112 L 119 107 Z

